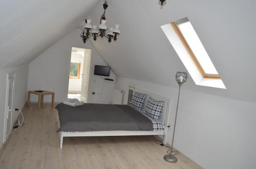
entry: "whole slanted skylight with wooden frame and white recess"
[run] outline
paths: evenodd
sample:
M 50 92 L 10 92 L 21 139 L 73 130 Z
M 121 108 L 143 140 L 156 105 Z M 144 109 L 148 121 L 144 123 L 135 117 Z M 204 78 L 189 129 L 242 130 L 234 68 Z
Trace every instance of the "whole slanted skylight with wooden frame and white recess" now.
M 188 18 L 161 28 L 196 85 L 226 89 Z

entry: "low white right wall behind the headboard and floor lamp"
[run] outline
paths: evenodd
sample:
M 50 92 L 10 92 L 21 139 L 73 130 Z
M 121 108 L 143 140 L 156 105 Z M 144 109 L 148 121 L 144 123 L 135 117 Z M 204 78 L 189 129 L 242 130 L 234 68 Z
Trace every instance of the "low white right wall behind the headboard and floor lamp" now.
M 123 103 L 127 101 L 128 85 L 171 98 L 174 123 L 178 88 L 118 77 L 116 88 L 124 92 Z M 256 168 L 255 110 L 256 103 L 183 89 L 174 147 L 204 168 Z M 167 142 L 171 141 L 169 132 Z

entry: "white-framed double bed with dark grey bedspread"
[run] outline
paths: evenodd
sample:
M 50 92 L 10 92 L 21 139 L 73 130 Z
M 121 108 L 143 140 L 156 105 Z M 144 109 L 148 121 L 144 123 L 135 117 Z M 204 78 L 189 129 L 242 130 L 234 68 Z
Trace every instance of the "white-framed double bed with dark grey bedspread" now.
M 163 135 L 166 134 L 170 118 L 171 100 L 152 92 L 136 88 L 146 94 L 141 111 L 129 105 L 91 104 L 72 107 L 58 104 L 56 109 L 60 149 L 63 137 L 74 136 L 124 136 L 124 135 Z M 148 97 L 164 101 L 162 114 L 158 121 L 145 115 L 144 109 Z M 165 130 L 165 131 L 164 131 Z

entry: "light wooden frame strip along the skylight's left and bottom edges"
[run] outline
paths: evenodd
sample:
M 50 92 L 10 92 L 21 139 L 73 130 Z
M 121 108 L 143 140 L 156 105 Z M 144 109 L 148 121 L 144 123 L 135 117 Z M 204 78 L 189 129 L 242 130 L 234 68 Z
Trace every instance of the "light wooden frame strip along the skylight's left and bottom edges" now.
M 188 52 L 188 54 L 190 55 L 191 59 L 195 63 L 195 65 L 198 68 L 199 72 L 201 73 L 202 77 L 203 78 L 220 79 L 221 76 L 219 74 L 206 74 L 205 73 L 204 69 L 202 68 L 202 66 L 200 65 L 199 61 L 197 60 L 194 52 L 191 50 L 189 44 L 187 43 L 187 41 L 185 40 L 184 36 L 182 35 L 182 33 L 181 33 L 178 25 L 176 24 L 176 22 L 171 22 L 170 24 L 172 24 L 174 31 L 178 35 L 179 39 L 181 40 L 181 42 L 182 42 L 183 46 L 185 47 L 186 51 Z

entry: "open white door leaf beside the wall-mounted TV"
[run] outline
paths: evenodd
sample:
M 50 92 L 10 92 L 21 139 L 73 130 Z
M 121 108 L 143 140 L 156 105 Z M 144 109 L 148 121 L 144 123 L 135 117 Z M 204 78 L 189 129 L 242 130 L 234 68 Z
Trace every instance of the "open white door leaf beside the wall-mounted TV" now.
M 90 77 L 90 66 L 91 66 L 91 49 L 86 49 L 84 52 L 83 60 L 83 72 L 82 72 L 82 86 L 81 86 L 81 101 L 88 102 L 88 89 L 89 89 L 89 77 Z

